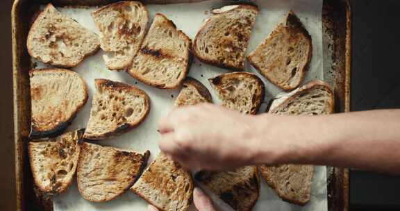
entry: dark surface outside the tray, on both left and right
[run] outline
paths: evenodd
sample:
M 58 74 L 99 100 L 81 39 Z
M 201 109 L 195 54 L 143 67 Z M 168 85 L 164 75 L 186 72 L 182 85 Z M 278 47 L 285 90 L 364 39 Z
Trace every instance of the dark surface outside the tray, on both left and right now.
M 0 2 L 0 210 L 15 210 L 11 3 Z M 351 110 L 400 108 L 400 1 L 353 0 L 351 5 Z M 400 210 L 399 192 L 399 176 L 350 173 L 350 210 Z

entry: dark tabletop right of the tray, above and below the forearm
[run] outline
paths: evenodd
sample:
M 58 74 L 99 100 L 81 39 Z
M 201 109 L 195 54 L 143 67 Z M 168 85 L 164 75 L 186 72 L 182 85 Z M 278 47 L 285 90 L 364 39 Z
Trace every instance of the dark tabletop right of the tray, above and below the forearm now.
M 400 1 L 351 4 L 351 110 L 400 108 Z M 351 210 L 400 210 L 399 189 L 399 176 L 351 171 Z

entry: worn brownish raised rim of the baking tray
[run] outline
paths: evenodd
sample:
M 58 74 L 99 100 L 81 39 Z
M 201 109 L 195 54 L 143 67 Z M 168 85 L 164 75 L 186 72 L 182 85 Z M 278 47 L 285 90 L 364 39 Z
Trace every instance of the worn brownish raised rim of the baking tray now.
M 12 22 L 12 83 L 13 83 L 13 120 L 14 120 L 14 146 L 15 146 L 15 189 L 16 189 L 16 203 L 17 210 L 25 210 L 24 209 L 24 173 L 26 167 L 25 157 L 26 153 L 24 151 L 24 147 L 26 147 L 25 140 L 26 137 L 22 135 L 22 124 L 26 123 L 24 119 L 22 119 L 22 105 L 24 100 L 22 96 L 20 96 L 20 90 L 22 89 L 20 82 L 24 82 L 24 78 L 19 75 L 20 71 L 20 63 L 21 58 L 19 55 L 21 53 L 21 49 L 19 49 L 19 44 L 21 44 L 18 39 L 19 30 L 21 30 L 20 23 L 18 21 L 19 13 L 18 10 L 22 7 L 23 3 L 26 3 L 30 0 L 15 0 L 12 4 L 11 11 L 11 22 Z M 50 0 L 51 1 L 51 0 Z M 61 0 L 63 1 L 63 0 Z M 69 0 L 65 0 L 68 2 Z M 94 0 L 98 2 L 110 2 L 115 0 Z M 195 2 L 195 1 L 203 1 L 203 0 L 149 0 L 152 3 L 179 3 L 179 2 Z M 334 1 L 334 0 L 324 0 L 325 1 Z M 338 0 L 339 1 L 339 0 Z M 344 108 L 343 112 L 350 111 L 350 81 L 351 81 L 351 4 L 349 0 L 342 0 L 344 3 L 344 9 L 346 10 L 346 23 L 345 23 L 345 37 L 344 37 Z M 24 44 L 22 45 L 24 46 Z M 23 51 L 24 49 L 22 49 Z M 21 101 L 22 100 L 22 101 Z M 342 210 L 349 209 L 349 169 L 344 168 L 333 168 L 333 174 L 340 174 L 342 176 Z M 329 200 L 329 198 L 328 198 Z M 339 199 L 338 199 L 339 200 Z M 331 210 L 328 208 L 328 210 Z M 333 210 L 337 210 L 333 208 Z M 339 209 L 338 209 L 339 210 Z M 341 210 L 341 209 L 340 209 Z

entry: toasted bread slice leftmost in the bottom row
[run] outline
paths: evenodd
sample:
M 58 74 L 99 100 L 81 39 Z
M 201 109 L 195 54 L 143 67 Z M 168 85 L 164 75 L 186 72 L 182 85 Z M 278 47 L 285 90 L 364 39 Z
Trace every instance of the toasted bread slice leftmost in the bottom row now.
M 64 133 L 49 140 L 29 142 L 33 181 L 40 192 L 58 194 L 72 183 L 81 153 L 83 130 Z

